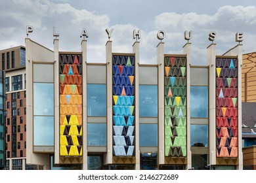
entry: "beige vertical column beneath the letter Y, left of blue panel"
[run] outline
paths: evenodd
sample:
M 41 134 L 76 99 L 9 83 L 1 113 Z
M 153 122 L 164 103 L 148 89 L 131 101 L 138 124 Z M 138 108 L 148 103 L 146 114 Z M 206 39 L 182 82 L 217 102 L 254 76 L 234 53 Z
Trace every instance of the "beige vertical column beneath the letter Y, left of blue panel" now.
M 104 157 L 104 165 L 112 164 L 113 160 L 113 122 L 112 122 L 112 41 L 106 42 L 107 63 L 107 154 Z

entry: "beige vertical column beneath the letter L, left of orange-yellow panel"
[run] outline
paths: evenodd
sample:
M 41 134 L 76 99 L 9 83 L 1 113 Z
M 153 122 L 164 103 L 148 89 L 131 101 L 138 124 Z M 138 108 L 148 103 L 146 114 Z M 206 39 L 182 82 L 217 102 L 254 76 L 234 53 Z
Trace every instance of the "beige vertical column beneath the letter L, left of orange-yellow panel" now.
M 58 39 L 54 39 L 54 163 L 60 161 L 60 91 L 59 91 L 59 60 Z

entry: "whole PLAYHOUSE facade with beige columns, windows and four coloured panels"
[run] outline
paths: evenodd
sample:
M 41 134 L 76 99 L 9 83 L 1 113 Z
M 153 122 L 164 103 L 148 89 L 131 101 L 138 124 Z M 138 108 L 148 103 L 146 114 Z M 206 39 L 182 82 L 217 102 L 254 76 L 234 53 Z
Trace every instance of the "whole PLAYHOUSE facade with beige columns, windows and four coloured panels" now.
M 26 161 L 43 169 L 242 169 L 242 45 L 223 56 L 208 48 L 209 65 L 184 54 L 157 64 L 132 53 L 106 63 L 81 52 L 49 50 L 26 39 Z M 11 84 L 10 84 L 11 86 Z

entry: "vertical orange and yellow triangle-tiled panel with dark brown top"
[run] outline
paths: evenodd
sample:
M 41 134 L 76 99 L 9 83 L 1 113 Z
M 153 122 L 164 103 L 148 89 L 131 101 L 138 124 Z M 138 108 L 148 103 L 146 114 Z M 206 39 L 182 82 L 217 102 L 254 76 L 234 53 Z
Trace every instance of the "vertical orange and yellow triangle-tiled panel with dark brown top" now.
M 82 156 L 82 56 L 60 54 L 60 156 Z

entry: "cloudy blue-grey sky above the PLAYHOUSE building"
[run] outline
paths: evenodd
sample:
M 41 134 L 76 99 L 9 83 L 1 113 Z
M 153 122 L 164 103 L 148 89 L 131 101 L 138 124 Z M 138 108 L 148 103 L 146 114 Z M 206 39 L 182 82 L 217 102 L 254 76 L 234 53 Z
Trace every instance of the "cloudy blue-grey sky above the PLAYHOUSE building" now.
M 80 51 L 87 29 L 87 60 L 105 62 L 105 29 L 114 29 L 113 52 L 132 52 L 133 29 L 141 30 L 140 63 L 156 63 L 156 35 L 165 30 L 166 54 L 182 54 L 184 31 L 192 31 L 192 63 L 206 64 L 210 31 L 217 33 L 217 54 L 237 43 L 244 33 L 244 53 L 256 51 L 254 0 L 1 0 L 0 50 L 24 45 L 26 25 L 30 38 L 53 49 L 53 27 L 60 33 L 62 51 Z

